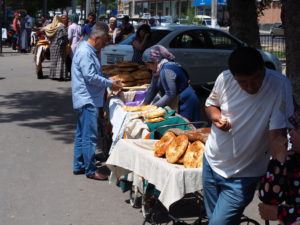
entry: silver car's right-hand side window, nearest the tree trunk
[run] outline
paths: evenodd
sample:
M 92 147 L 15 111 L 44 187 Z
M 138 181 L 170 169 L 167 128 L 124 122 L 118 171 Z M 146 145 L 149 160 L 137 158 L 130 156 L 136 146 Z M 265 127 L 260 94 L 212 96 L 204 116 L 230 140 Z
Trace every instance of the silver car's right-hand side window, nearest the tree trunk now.
M 233 50 L 239 46 L 239 43 L 223 32 L 217 30 L 207 30 L 208 38 L 214 49 Z

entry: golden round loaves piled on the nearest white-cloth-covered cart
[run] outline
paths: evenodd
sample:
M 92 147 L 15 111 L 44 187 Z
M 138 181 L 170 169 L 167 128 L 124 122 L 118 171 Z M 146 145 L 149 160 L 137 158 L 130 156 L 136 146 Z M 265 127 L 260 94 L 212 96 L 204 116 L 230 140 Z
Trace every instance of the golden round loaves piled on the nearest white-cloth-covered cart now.
M 185 168 L 202 168 L 204 143 L 209 133 L 210 128 L 201 128 L 182 130 L 182 133 L 176 136 L 169 130 L 155 143 L 154 155 L 156 157 L 166 156 L 169 163 L 183 164 Z M 202 138 L 195 140 L 195 137 Z

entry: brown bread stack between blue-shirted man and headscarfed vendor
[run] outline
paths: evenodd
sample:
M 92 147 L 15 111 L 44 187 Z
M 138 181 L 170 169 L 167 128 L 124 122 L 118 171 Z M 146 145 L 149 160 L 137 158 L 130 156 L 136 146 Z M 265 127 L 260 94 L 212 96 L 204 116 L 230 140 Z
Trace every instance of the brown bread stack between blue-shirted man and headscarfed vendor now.
M 139 65 L 134 62 L 118 62 L 112 65 L 102 66 L 102 72 L 121 80 L 123 87 L 137 87 L 145 84 L 150 84 L 151 73 L 144 65 Z

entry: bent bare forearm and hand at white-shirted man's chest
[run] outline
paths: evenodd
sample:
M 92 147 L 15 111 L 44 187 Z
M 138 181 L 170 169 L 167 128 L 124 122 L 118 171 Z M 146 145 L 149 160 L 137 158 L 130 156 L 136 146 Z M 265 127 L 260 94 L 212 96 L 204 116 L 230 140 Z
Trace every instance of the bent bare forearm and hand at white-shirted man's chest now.
M 231 128 L 231 124 L 228 120 L 224 120 L 221 116 L 221 109 L 217 106 L 206 106 L 205 112 L 207 117 L 212 123 L 223 131 L 228 131 Z

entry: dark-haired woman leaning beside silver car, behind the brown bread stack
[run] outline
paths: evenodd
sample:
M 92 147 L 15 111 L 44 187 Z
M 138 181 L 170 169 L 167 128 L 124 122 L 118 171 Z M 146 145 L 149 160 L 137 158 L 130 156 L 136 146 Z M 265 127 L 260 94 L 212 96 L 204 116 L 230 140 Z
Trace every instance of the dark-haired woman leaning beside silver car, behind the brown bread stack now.
M 144 64 L 142 60 L 143 52 L 151 46 L 151 29 L 148 24 L 142 24 L 132 41 L 133 56 L 132 62 Z

